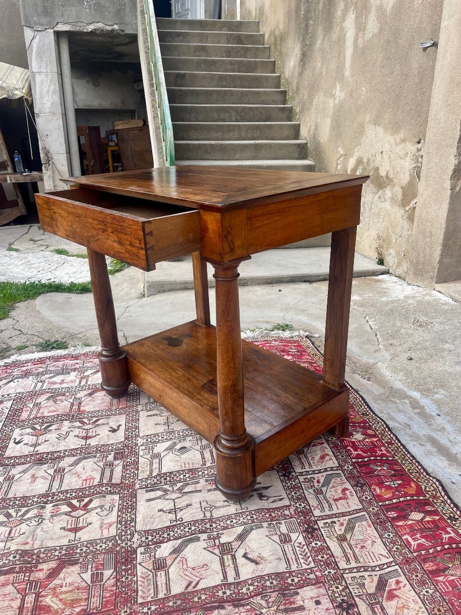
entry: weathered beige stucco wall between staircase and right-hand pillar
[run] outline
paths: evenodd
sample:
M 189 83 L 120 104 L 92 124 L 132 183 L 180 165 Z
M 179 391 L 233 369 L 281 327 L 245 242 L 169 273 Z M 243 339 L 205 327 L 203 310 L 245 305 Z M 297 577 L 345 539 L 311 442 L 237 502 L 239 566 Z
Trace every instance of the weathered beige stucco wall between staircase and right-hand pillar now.
M 405 278 L 443 0 L 242 0 L 320 172 L 369 173 L 358 251 Z

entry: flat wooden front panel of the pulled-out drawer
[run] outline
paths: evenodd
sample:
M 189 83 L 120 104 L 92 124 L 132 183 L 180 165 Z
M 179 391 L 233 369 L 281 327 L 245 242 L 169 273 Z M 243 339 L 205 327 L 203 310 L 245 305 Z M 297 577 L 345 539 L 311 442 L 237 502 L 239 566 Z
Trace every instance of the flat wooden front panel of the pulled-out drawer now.
M 148 269 L 142 220 L 64 199 L 57 194 L 36 194 L 36 203 L 44 231 L 140 269 Z

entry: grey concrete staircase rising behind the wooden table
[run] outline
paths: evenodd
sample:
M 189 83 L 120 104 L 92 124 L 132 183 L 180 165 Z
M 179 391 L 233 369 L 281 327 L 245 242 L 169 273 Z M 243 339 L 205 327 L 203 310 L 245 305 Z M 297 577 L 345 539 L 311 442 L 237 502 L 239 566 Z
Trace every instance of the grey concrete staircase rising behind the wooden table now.
M 258 22 L 157 19 L 176 164 L 313 171 Z

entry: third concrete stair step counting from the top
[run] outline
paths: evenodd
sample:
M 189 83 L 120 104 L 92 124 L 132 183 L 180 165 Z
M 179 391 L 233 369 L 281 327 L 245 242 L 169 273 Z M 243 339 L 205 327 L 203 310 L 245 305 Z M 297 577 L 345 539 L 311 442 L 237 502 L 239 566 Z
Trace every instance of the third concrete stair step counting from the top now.
M 254 58 L 269 59 L 267 45 L 207 45 L 204 43 L 161 42 L 162 56 L 189 58 Z

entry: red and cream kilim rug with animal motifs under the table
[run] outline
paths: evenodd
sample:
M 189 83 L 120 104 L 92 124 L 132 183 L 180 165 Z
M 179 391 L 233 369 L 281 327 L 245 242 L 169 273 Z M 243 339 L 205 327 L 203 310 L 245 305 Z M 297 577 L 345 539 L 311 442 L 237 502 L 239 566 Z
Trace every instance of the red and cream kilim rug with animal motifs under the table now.
M 255 343 L 320 371 L 303 336 Z M 0 366 L 1 615 L 461 613 L 461 515 L 351 391 L 232 504 L 213 450 L 93 352 Z

